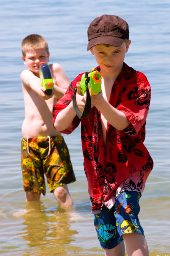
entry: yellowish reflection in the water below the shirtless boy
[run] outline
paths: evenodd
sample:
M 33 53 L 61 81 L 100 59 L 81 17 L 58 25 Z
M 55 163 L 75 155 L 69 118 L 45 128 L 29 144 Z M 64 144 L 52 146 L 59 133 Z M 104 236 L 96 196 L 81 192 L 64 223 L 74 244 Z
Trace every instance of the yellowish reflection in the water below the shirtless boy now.
M 25 226 L 22 236 L 27 245 L 37 247 L 37 250 L 40 249 L 42 253 L 47 247 L 49 251 L 49 246 L 53 250 L 54 247 L 56 249 L 60 245 L 67 245 L 74 241 L 72 237 L 78 232 L 70 230 L 70 214 L 71 212 L 60 207 L 57 210 L 47 211 L 46 207 L 40 203 L 32 202 L 32 205 L 27 205 L 24 214 L 25 221 L 22 223 Z M 63 248 L 62 250 L 64 250 Z

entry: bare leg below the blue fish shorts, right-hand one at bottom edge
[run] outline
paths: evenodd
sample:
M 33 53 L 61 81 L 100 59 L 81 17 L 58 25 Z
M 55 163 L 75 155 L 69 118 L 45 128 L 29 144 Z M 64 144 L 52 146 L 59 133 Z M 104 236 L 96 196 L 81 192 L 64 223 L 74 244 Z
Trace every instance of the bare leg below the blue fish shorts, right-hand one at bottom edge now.
M 145 237 L 140 233 L 130 233 L 122 236 L 128 256 L 149 256 Z

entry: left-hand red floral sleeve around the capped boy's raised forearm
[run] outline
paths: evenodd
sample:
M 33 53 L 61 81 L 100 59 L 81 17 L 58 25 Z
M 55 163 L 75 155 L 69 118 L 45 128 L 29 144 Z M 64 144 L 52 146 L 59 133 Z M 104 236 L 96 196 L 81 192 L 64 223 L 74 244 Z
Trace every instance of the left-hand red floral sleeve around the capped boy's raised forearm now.
M 58 113 L 63 110 L 64 108 L 66 108 L 70 102 L 72 101 L 72 97 L 75 91 L 75 87 L 76 87 L 76 82 L 79 82 L 81 80 L 81 75 L 79 74 L 68 86 L 67 91 L 65 92 L 65 94 L 63 95 L 63 97 L 57 101 L 57 103 L 53 106 L 53 110 L 52 110 L 52 114 L 53 114 L 53 126 L 54 126 L 54 122 L 55 119 L 58 115 Z M 75 116 L 75 118 L 72 120 L 71 125 L 61 131 L 61 133 L 65 133 L 65 134 L 70 134 L 72 133 L 72 131 L 75 130 L 75 128 L 77 128 L 77 126 L 80 124 L 80 119 L 77 117 L 77 115 Z M 55 128 L 55 126 L 54 126 Z

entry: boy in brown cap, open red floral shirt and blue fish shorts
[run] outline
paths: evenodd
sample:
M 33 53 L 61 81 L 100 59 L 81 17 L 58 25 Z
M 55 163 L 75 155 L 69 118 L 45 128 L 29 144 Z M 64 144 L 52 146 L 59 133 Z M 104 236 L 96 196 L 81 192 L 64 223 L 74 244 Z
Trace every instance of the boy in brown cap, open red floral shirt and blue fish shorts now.
M 128 256 L 148 256 L 138 213 L 139 199 L 153 169 L 143 144 L 150 84 L 143 73 L 124 63 L 131 42 L 125 20 L 102 15 L 90 23 L 87 35 L 87 50 L 102 73 L 102 90 L 90 94 L 90 115 L 80 120 L 72 103 L 77 86 L 77 106 L 84 111 L 87 94 L 81 95 L 79 74 L 54 106 L 54 127 L 69 134 L 81 121 L 88 192 L 105 255 L 125 255 L 126 245 Z

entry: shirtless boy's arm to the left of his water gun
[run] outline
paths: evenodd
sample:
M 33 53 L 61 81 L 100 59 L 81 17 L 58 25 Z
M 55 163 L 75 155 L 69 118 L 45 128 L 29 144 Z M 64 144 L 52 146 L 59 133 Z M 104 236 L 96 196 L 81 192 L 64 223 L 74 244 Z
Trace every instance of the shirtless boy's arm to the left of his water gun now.
M 20 74 L 21 81 L 23 86 L 30 87 L 35 93 L 37 93 L 44 100 L 48 100 L 52 97 L 52 95 L 47 95 L 45 93 L 45 88 L 42 87 L 41 81 L 39 77 L 36 77 L 30 70 L 24 70 Z

